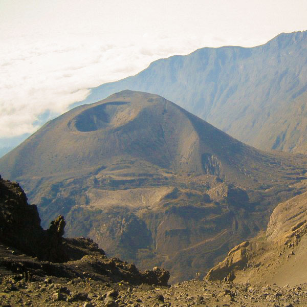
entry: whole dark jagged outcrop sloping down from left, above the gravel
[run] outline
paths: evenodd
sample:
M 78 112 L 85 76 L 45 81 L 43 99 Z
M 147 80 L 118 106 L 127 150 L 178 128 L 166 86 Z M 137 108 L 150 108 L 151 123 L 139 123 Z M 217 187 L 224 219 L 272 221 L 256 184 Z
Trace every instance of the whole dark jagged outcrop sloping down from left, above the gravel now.
M 167 286 L 169 272 L 155 267 L 139 271 L 134 264 L 107 258 L 89 238 L 63 238 L 65 220 L 59 215 L 48 230 L 40 226 L 37 208 L 17 183 L 0 177 L 0 277 L 87 277 Z

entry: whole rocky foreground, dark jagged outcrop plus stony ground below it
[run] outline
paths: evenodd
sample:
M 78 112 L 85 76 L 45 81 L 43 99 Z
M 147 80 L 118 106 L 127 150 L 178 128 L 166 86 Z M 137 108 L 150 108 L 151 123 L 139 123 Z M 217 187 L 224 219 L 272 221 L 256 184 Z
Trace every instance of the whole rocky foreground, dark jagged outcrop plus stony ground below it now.
M 59 215 L 43 230 L 36 206 L 27 203 L 20 186 L 0 177 L 0 306 L 307 305 L 305 283 L 257 287 L 190 280 L 170 286 L 163 268 L 142 272 L 108 258 L 89 238 L 64 238 L 64 226 Z M 297 234 L 301 228 L 291 229 Z

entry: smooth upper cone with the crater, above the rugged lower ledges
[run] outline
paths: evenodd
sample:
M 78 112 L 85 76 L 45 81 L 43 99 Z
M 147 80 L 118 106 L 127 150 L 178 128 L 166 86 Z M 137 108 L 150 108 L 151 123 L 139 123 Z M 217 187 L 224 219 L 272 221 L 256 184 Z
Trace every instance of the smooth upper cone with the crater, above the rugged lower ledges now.
M 158 95 L 123 91 L 48 122 L 0 159 L 0 169 L 16 180 L 89 172 L 118 159 L 213 174 L 245 186 L 267 181 L 267 172 L 270 182 L 280 181 L 278 165 L 288 163 L 231 138 Z

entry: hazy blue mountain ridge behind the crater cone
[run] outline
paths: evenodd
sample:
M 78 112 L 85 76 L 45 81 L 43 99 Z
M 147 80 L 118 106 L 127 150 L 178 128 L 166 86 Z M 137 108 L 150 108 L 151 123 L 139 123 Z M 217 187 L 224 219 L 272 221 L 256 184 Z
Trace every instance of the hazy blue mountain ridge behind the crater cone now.
M 129 89 L 159 94 L 260 149 L 307 152 L 307 31 L 254 48 L 202 48 L 92 89 L 82 103 Z

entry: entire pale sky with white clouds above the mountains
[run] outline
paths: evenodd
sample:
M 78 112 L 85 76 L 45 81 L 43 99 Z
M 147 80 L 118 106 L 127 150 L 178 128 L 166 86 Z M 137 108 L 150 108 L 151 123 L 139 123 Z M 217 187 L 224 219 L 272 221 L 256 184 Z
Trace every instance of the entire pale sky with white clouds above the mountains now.
M 306 16 L 306 0 L 0 0 L 0 149 L 91 87 L 202 47 L 262 45 Z

